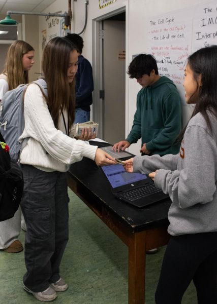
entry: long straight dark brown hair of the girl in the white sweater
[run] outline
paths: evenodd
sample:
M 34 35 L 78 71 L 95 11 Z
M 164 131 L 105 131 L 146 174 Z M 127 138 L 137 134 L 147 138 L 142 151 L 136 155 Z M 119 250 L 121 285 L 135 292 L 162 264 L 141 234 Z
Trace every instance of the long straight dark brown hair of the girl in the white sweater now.
M 54 126 L 58 128 L 59 111 L 68 112 L 69 128 L 75 119 L 75 78 L 69 84 L 67 72 L 70 53 L 76 47 L 64 37 L 54 37 L 44 48 L 42 70 L 47 83 L 47 104 Z

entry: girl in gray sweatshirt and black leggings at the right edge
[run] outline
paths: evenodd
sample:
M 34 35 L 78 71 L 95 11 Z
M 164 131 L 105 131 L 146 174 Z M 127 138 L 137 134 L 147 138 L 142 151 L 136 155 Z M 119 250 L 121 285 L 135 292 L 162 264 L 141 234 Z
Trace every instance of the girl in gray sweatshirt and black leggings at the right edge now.
M 217 303 L 217 46 L 185 67 L 185 99 L 195 104 L 177 155 L 135 157 L 128 172 L 149 173 L 172 204 L 157 304 L 180 304 L 193 280 L 200 304 Z M 154 172 L 153 172 L 154 171 Z M 151 173 L 150 173 L 151 172 Z

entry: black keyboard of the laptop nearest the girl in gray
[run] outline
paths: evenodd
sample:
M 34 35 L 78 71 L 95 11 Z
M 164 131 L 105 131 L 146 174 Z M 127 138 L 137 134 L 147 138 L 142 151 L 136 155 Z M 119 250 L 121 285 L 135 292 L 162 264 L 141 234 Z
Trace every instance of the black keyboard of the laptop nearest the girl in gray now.
M 141 188 L 133 189 L 128 192 L 124 192 L 119 195 L 120 198 L 125 198 L 131 202 L 142 199 L 144 197 L 150 196 L 151 194 L 155 194 L 161 192 L 161 189 L 156 188 L 156 186 L 153 184 L 148 184 L 145 186 L 142 186 Z

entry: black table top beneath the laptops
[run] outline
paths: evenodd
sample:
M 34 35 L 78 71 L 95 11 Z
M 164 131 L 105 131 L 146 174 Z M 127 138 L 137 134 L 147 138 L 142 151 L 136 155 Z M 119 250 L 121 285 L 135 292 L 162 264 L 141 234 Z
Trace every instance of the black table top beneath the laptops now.
M 94 144 L 97 144 L 95 142 Z M 102 143 L 99 143 L 102 145 Z M 138 232 L 153 226 L 168 224 L 170 199 L 144 208 L 134 207 L 114 197 L 110 185 L 101 169 L 94 161 L 83 158 L 82 161 L 71 165 L 69 174 L 80 184 L 84 185 L 95 199 L 99 200 L 109 211 L 116 214 L 118 219 L 125 222 L 131 230 Z

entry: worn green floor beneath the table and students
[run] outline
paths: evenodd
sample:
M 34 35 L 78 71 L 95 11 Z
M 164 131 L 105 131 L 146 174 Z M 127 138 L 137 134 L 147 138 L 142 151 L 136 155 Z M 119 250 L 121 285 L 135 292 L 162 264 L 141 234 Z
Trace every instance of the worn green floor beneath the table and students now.
M 62 263 L 61 276 L 69 289 L 58 293 L 56 304 L 127 304 L 127 247 L 71 191 L 70 240 Z M 20 240 L 24 244 L 24 232 Z M 154 304 L 164 249 L 146 259 L 146 304 Z M 0 251 L 0 304 L 39 303 L 22 289 L 25 273 L 24 252 Z M 182 304 L 196 304 L 193 285 Z

